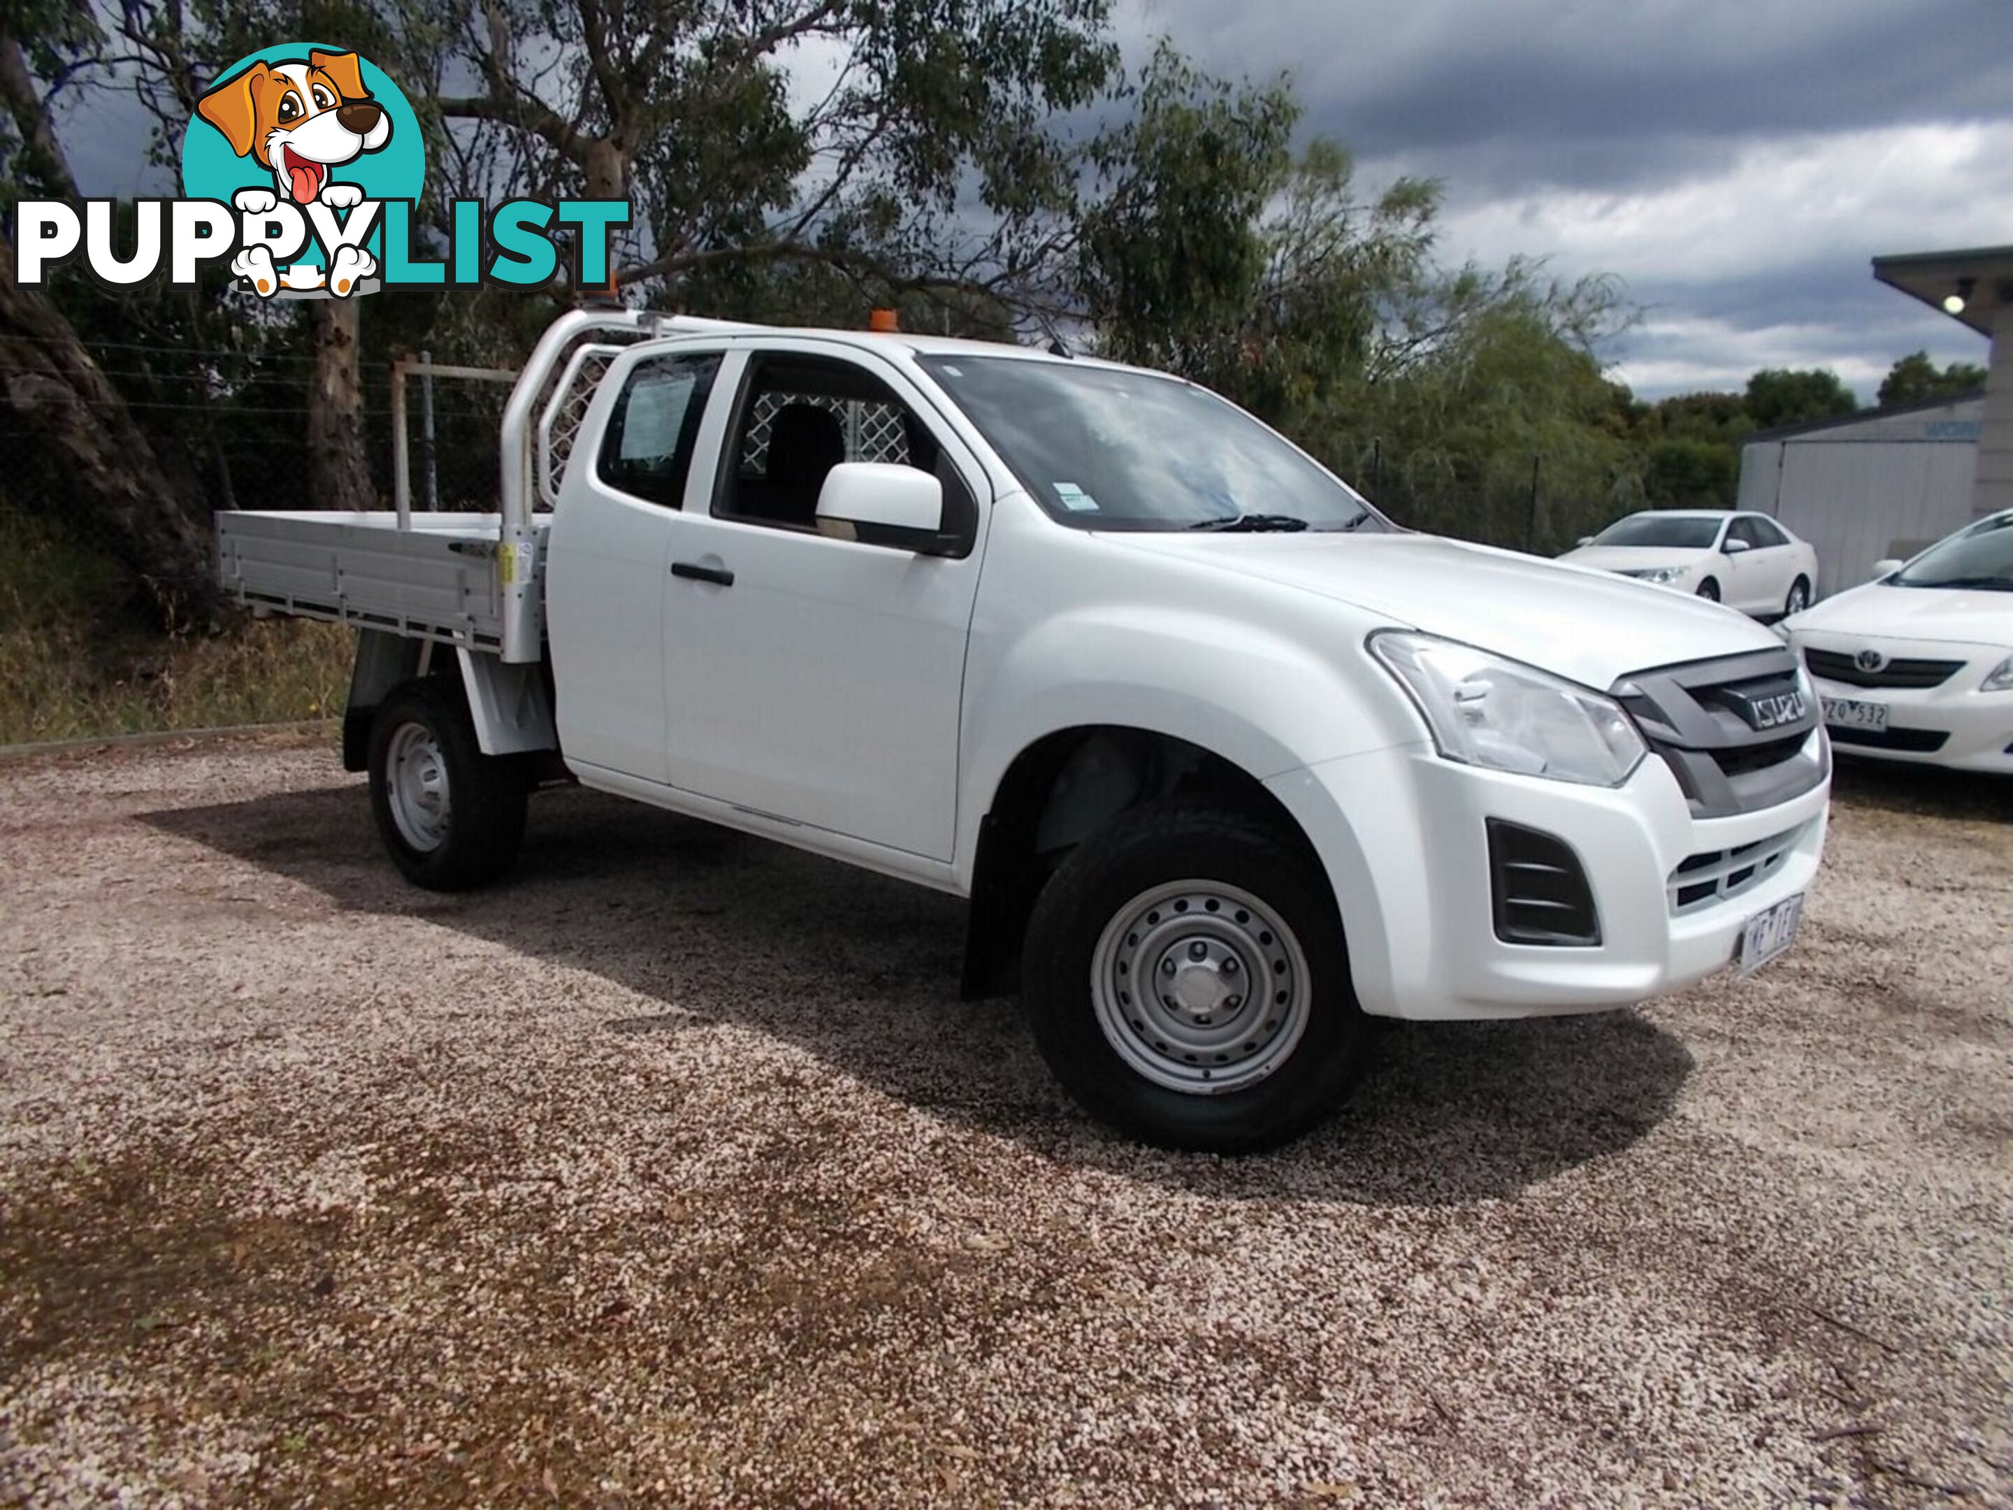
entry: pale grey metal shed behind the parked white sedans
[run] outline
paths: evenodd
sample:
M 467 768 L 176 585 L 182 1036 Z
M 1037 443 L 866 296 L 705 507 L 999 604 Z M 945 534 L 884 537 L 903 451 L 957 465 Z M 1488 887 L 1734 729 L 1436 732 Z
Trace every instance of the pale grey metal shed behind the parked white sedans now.
M 1985 397 L 1800 425 L 1741 447 L 1739 507 L 1818 548 L 1820 596 L 1912 556 L 1971 515 Z

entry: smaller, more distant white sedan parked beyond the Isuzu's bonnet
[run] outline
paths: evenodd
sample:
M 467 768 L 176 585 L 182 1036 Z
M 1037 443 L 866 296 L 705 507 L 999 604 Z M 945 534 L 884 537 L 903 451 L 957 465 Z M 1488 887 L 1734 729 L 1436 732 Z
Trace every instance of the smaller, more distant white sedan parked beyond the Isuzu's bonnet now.
M 1765 513 L 1631 513 L 1560 560 L 1695 592 L 1755 618 L 1798 614 L 1818 596 L 1818 552 Z

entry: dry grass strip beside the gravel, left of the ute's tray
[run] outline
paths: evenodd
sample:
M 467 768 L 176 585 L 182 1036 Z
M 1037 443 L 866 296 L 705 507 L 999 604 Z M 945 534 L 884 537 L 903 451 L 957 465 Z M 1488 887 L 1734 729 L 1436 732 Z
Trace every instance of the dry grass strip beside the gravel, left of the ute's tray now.
M 117 562 L 0 507 L 0 745 L 334 719 L 354 642 L 340 624 L 248 622 L 165 636 L 133 622 Z

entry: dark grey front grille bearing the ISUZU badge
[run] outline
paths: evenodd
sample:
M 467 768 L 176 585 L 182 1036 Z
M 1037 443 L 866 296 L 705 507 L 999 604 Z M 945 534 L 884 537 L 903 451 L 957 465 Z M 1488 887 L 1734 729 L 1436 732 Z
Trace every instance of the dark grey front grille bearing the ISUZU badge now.
M 1610 691 L 1671 767 L 1695 817 L 1773 807 L 1824 781 L 1816 699 L 1806 695 L 1802 715 L 1788 723 L 1753 727 L 1802 691 L 1788 646 L 1639 670 Z

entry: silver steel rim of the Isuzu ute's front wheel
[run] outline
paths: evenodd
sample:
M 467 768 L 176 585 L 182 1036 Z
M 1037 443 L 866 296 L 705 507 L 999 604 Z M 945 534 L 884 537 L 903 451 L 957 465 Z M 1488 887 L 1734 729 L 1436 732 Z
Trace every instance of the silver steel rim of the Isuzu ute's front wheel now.
M 1222 882 L 1178 880 L 1111 916 L 1091 956 L 1091 1005 L 1127 1069 L 1172 1091 L 1226 1095 L 1292 1057 L 1312 976 L 1270 906 Z

